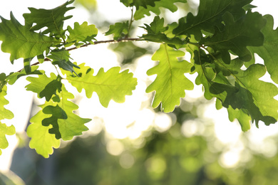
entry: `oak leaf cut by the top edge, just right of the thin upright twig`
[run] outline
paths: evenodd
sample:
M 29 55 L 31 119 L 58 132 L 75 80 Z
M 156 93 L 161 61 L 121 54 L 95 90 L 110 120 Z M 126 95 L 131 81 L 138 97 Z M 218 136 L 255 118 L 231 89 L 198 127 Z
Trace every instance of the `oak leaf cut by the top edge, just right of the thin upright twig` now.
M 159 15 L 160 14 L 160 8 L 163 7 L 165 9 L 169 9 L 172 12 L 177 11 L 177 6 L 175 3 L 186 3 L 187 0 L 160 0 L 155 1 L 155 6 L 147 5 L 145 7 L 140 6 L 139 9 L 136 9 L 134 14 L 134 19 L 139 20 L 140 18 L 143 18 L 144 15 L 150 16 L 150 11 L 153 13 Z

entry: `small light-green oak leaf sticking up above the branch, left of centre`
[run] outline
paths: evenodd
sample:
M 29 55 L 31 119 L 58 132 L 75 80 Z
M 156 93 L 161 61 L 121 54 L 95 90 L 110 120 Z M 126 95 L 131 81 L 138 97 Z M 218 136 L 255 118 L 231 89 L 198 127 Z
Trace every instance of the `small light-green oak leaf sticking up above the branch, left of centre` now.
M 67 43 L 73 43 L 76 46 L 81 45 L 83 43 L 93 43 L 92 40 L 96 37 L 98 34 L 98 29 L 95 25 L 91 24 L 88 25 L 87 22 L 83 22 L 81 25 L 79 25 L 78 22 L 74 23 L 74 28 L 71 28 L 71 26 L 68 26 L 68 32 L 70 35 L 68 36 L 68 39 L 66 40 Z

